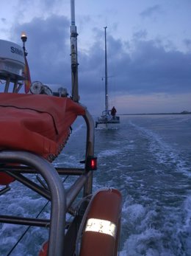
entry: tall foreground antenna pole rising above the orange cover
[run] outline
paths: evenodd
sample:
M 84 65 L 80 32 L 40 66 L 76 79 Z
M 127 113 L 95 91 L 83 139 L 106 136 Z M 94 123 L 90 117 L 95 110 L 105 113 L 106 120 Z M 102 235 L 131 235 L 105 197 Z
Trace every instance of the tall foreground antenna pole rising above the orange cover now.
M 71 82 L 72 100 L 79 101 L 77 28 L 75 24 L 75 1 L 71 0 Z

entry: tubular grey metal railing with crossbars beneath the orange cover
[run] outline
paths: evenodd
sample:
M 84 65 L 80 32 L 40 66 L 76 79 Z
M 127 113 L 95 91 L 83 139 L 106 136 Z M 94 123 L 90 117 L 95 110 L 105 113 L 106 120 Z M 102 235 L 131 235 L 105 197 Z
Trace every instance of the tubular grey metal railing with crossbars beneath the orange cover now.
M 84 120 L 87 124 L 86 139 L 86 159 L 84 168 L 56 168 L 53 164 L 37 156 L 34 153 L 26 151 L 0 151 L 0 172 L 4 172 L 14 177 L 17 181 L 26 187 L 34 190 L 40 196 L 51 201 L 50 219 L 21 218 L 18 216 L 0 215 L 1 223 L 21 224 L 29 226 L 48 226 L 48 255 L 66 255 L 65 254 L 65 215 L 70 212 L 70 207 L 79 193 L 84 189 L 83 196 L 90 196 L 92 193 L 93 171 L 87 170 L 87 159 L 94 155 L 94 122 L 89 112 L 86 110 Z M 4 165 L 17 163 L 19 165 Z M 46 186 L 32 181 L 26 173 L 39 173 Z M 79 176 L 71 187 L 65 191 L 60 175 Z M 75 212 L 75 211 L 74 211 Z M 72 239 L 75 240 L 76 234 Z M 75 241 L 73 241 L 75 243 Z M 68 253 L 67 253 L 68 254 Z

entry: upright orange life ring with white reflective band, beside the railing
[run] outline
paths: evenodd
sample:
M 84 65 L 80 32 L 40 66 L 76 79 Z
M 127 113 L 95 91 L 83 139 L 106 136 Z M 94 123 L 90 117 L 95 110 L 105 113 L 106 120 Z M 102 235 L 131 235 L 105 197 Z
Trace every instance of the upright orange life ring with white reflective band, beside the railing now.
M 118 190 L 99 191 L 87 213 L 80 256 L 118 255 L 122 197 Z

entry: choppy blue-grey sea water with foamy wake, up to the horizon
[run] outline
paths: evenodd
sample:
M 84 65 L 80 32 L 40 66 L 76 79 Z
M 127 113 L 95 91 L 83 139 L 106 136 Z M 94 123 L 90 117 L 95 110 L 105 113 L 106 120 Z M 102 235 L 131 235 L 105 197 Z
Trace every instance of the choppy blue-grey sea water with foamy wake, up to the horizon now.
M 54 165 L 80 167 L 84 141 L 79 119 Z M 95 130 L 95 156 L 93 191 L 115 187 L 123 196 L 119 255 L 191 255 L 191 115 L 121 116 L 117 128 Z M 17 182 L 11 187 L 0 197 L 1 214 L 35 216 L 46 204 Z M 48 207 L 40 218 L 48 217 Z M 26 228 L 0 224 L 0 255 L 8 255 Z M 10 255 L 37 255 L 47 238 L 47 229 L 31 227 Z

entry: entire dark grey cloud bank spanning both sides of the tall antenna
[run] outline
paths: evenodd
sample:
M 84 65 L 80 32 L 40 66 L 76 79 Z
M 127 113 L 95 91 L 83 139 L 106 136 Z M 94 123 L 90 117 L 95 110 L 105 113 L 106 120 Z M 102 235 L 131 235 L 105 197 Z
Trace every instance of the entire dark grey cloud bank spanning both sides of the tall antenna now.
M 53 15 L 17 24 L 13 30 L 14 38 L 23 30 L 29 37 L 26 49 L 29 51 L 32 80 L 48 84 L 64 83 L 71 89 L 68 19 Z M 93 46 L 88 52 L 79 51 L 79 91 L 82 98 L 98 97 L 101 77 L 104 76 L 104 31 L 94 32 Z M 108 33 L 108 75 L 113 75 L 116 83 L 112 90 L 116 94 L 190 92 L 191 54 L 179 52 L 173 47 L 167 50 L 159 40 L 143 38 L 139 35 L 133 41 L 123 42 Z

